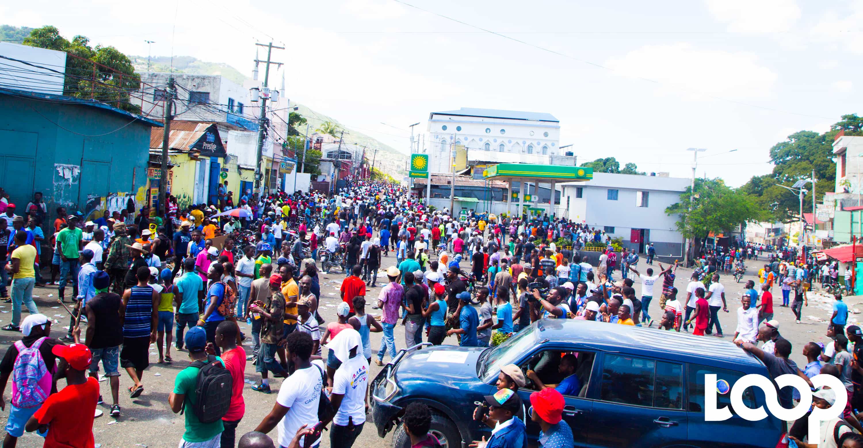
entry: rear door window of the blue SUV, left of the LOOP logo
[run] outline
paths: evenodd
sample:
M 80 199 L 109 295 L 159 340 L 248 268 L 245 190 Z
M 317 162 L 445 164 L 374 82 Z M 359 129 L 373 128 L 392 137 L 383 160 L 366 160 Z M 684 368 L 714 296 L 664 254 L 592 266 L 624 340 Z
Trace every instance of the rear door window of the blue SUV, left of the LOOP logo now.
M 683 365 L 606 355 L 600 398 L 634 406 L 682 409 Z

